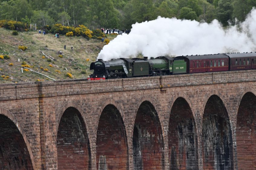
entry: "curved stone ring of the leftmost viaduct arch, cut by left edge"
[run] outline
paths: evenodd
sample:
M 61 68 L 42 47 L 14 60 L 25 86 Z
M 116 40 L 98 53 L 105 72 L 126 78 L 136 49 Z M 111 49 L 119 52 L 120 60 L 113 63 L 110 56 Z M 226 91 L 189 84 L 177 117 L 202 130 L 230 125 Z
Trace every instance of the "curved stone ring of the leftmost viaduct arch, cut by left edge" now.
M 19 124 L 18 120 L 15 118 L 15 116 L 10 111 L 8 111 L 7 109 L 5 109 L 3 107 L 0 107 L 0 115 L 3 115 L 5 117 L 7 117 L 11 122 L 13 122 L 15 124 L 15 127 L 17 128 L 18 132 L 22 136 L 22 139 L 24 140 L 26 149 L 27 149 L 28 154 L 29 154 L 29 159 L 30 159 L 29 161 L 31 161 L 31 167 L 29 169 L 36 169 L 36 166 L 35 166 L 35 163 L 34 163 L 34 156 L 33 156 L 33 153 L 32 153 L 32 150 L 31 150 L 28 138 L 27 138 L 23 128 Z M 0 144 L 0 146 L 1 146 L 1 144 Z M 2 164 L 3 163 L 1 163 L 1 165 Z M 2 168 L 2 167 L 0 167 L 0 168 Z M 6 167 L 6 168 L 8 169 L 8 167 Z

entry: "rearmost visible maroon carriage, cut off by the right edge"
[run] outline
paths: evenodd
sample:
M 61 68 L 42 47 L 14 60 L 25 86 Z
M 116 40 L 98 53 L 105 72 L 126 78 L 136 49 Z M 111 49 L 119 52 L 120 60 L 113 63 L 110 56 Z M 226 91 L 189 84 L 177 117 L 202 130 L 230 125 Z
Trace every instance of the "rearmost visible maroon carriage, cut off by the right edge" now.
M 256 52 L 228 53 L 229 70 L 250 70 L 256 69 Z

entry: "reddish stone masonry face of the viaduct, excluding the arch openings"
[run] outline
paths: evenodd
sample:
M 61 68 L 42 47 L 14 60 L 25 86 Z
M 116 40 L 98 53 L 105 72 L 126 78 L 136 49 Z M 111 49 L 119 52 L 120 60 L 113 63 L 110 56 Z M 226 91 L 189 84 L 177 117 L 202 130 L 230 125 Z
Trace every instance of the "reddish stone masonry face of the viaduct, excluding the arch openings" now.
M 228 71 L 202 74 L 183 74 L 162 77 L 140 77 L 117 80 L 85 81 L 64 80 L 34 83 L 10 83 L 0 84 L 0 107 L 7 110 L 16 118 L 18 128 L 22 130 L 23 138 L 27 139 L 26 145 L 31 148 L 35 169 L 57 169 L 57 131 L 58 123 L 65 107 L 74 107 L 79 110 L 86 127 L 90 151 L 91 167 L 96 169 L 96 139 L 97 127 L 100 114 L 108 104 L 114 105 L 120 112 L 123 119 L 127 145 L 128 145 L 128 166 L 133 169 L 133 128 L 136 113 L 144 101 L 149 101 L 156 109 L 157 116 L 162 128 L 163 156 L 164 162 L 161 165 L 154 165 L 156 168 L 169 169 L 169 147 L 168 127 L 172 104 L 178 97 L 188 102 L 195 119 L 195 128 L 198 143 L 197 162 L 199 169 L 203 169 L 202 157 L 202 124 L 203 113 L 207 100 L 212 95 L 217 95 L 227 110 L 233 140 L 233 159 L 231 164 L 237 169 L 240 166 L 251 168 L 255 165 L 255 159 L 249 155 L 243 155 L 243 147 L 238 147 L 236 155 L 236 139 L 240 143 L 247 143 L 249 136 L 248 129 L 239 128 L 244 132 L 243 136 L 237 136 L 236 122 L 240 101 L 246 92 L 256 95 L 256 71 Z M 249 100 L 248 100 L 249 101 Z M 68 104 L 69 103 L 69 104 Z M 184 103 L 183 103 L 184 104 Z M 245 110 L 248 102 L 242 103 L 242 110 Z M 66 108 L 67 109 L 67 108 Z M 240 111 L 241 112 L 241 111 Z M 3 114 L 2 112 L 0 114 Z M 174 115 L 179 113 L 174 111 Z M 253 115 L 252 115 L 253 116 Z M 240 119 L 240 118 L 239 118 Z M 239 120 L 238 120 L 239 121 Z M 254 121 L 255 118 L 254 118 Z M 244 121 L 239 122 L 240 124 Z M 173 128 L 171 128 L 173 129 Z M 172 130 L 176 133 L 175 130 Z M 237 143 L 238 145 L 239 143 Z M 243 144 L 248 148 L 254 145 Z M 185 147 L 181 145 L 180 148 Z M 248 150 L 251 155 L 254 152 Z M 246 151 L 247 152 L 247 151 Z M 111 152 L 109 153 L 111 155 Z M 31 157 L 31 156 L 30 156 Z M 185 162 L 186 159 L 182 159 Z M 238 163 L 237 163 L 238 162 Z M 251 164 L 250 162 L 254 162 Z M 153 163 L 153 162 L 151 162 Z M 116 162 L 117 167 L 122 168 L 126 162 Z M 189 165 L 189 164 L 186 164 Z M 185 163 L 182 166 L 186 166 Z M 77 165 L 78 166 L 78 165 Z M 195 163 L 193 163 L 193 166 Z M 189 168 L 189 167 L 187 167 Z M 191 168 L 191 167 L 190 167 Z M 255 167 L 254 167 L 255 168 Z

